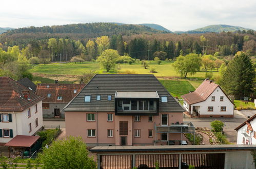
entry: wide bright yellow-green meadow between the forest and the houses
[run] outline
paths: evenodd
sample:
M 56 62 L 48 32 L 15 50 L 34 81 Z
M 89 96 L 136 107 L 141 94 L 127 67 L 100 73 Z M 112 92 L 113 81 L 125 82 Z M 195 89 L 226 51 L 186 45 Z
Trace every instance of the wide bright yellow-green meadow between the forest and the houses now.
M 116 64 L 116 69 L 111 70 L 109 73 L 122 73 L 126 70 L 135 71 L 137 74 L 154 74 L 157 77 L 180 77 L 180 74 L 176 73 L 174 67 L 172 66 L 173 62 L 162 61 L 161 65 L 157 65 L 155 61 L 150 61 L 149 67 L 144 69 L 144 67 L 140 63 L 134 63 L 132 65 L 129 64 Z M 119 70 L 117 70 L 119 67 Z M 150 73 L 150 69 L 154 67 L 157 73 Z M 60 74 L 60 75 L 81 75 L 88 70 L 95 70 L 98 73 L 107 73 L 106 70 L 100 67 L 98 62 L 90 62 L 86 61 L 82 64 L 74 64 L 73 62 L 68 63 L 52 63 L 47 65 L 36 65 L 31 66 L 31 73 L 40 73 L 40 74 Z M 194 75 L 188 74 L 188 78 L 204 78 L 205 71 L 196 72 Z M 213 75 L 218 74 L 215 70 L 213 70 Z

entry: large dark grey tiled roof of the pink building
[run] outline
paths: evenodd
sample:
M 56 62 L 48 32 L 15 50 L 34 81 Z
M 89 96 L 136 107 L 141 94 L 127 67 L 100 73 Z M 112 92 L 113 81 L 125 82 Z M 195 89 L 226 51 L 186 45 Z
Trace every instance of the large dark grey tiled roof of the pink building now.
M 115 92 L 155 92 L 159 94 L 159 112 L 184 112 L 182 105 L 173 98 L 154 75 L 96 74 L 85 88 L 64 108 L 64 111 L 114 111 Z M 91 96 L 84 102 L 85 95 Z M 97 101 L 96 96 L 101 95 Z M 108 95 L 112 96 L 108 101 Z M 161 102 L 167 96 L 168 102 Z

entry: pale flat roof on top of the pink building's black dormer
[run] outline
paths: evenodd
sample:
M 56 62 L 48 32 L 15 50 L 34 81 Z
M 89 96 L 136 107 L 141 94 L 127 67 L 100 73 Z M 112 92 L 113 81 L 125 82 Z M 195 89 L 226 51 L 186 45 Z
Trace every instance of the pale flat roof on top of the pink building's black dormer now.
M 117 92 L 115 98 L 159 98 L 157 92 Z

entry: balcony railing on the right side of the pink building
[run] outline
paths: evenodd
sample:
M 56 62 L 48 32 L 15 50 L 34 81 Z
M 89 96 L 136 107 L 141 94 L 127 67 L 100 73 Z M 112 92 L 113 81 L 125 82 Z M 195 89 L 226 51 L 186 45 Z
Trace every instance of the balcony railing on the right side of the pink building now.
M 192 122 L 184 122 L 182 124 L 171 124 L 169 126 L 156 126 L 154 124 L 156 133 L 193 133 L 195 126 Z

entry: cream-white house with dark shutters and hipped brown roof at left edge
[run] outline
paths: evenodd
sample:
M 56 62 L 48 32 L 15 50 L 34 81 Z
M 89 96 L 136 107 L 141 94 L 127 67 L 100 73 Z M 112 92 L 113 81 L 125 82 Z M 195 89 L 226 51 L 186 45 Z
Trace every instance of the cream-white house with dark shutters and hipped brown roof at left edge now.
M 0 77 L 0 143 L 32 136 L 43 127 L 42 100 L 9 77 Z

